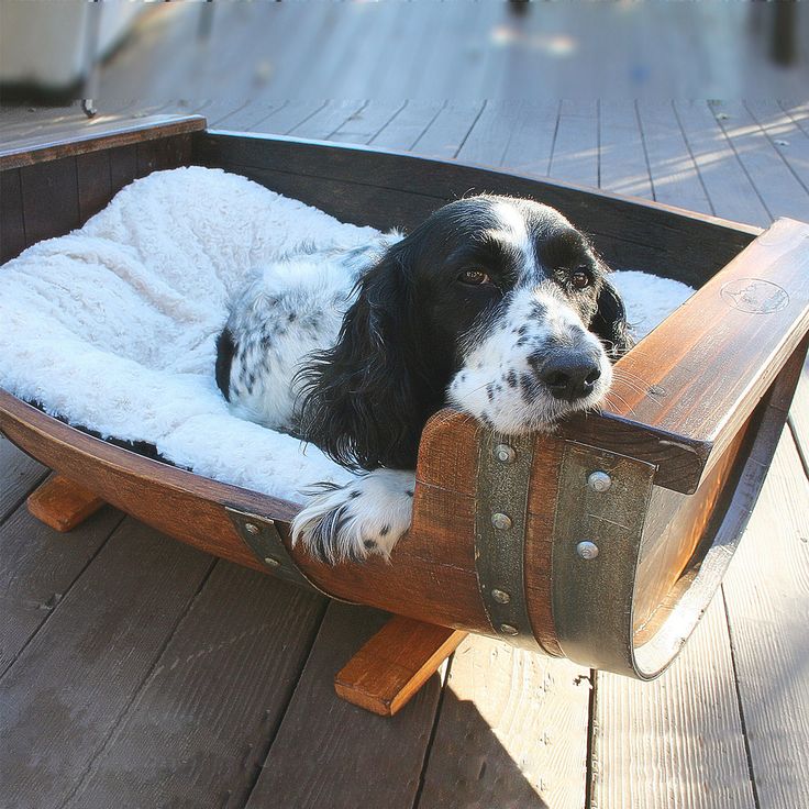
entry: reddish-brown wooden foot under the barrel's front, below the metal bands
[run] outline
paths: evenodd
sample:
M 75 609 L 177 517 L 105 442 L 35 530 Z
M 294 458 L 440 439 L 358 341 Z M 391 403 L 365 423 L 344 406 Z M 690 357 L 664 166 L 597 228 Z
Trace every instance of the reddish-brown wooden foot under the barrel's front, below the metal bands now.
M 461 630 L 391 618 L 334 678 L 339 697 L 392 717 L 466 638 Z

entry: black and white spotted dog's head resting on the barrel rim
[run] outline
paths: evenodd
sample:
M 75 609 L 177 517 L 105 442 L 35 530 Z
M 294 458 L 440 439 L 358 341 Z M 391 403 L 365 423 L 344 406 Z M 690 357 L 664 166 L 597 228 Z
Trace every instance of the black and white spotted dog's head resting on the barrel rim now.
M 447 400 L 506 434 L 597 404 L 631 345 L 620 297 L 558 211 L 474 197 L 433 213 L 362 278 L 317 357 L 304 434 L 344 464 L 412 468 Z

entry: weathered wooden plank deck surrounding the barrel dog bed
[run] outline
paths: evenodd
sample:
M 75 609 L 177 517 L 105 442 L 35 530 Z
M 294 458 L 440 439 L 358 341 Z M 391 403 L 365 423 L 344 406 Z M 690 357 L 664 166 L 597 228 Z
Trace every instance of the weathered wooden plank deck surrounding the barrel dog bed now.
M 162 46 L 144 40 L 134 46 Z M 131 79 L 128 59 L 104 70 L 110 96 Z M 809 221 L 806 99 L 289 95 L 101 110 L 199 110 L 214 128 L 505 166 L 760 225 Z M 16 108 L 0 136 L 91 125 L 76 108 Z M 0 807 L 806 806 L 808 461 L 805 373 L 721 594 L 661 679 L 473 638 L 381 719 L 332 686 L 381 613 L 217 561 L 109 508 L 56 534 L 24 507 L 48 472 L 0 439 Z

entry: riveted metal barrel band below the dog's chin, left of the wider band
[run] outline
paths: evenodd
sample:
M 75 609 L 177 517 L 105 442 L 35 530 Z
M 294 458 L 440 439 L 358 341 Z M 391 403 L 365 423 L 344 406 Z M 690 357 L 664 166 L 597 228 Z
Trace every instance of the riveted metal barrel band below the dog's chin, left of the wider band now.
M 528 614 L 524 579 L 528 486 L 533 437 L 480 435 L 475 505 L 475 573 L 492 632 L 512 645 L 544 651 Z

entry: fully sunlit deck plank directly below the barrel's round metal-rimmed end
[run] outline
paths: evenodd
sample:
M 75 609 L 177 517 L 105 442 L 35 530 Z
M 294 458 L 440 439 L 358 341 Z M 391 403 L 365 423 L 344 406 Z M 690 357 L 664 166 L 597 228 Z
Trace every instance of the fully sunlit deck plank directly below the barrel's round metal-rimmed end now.
M 594 809 L 754 809 L 718 597 L 654 683 L 597 675 Z

